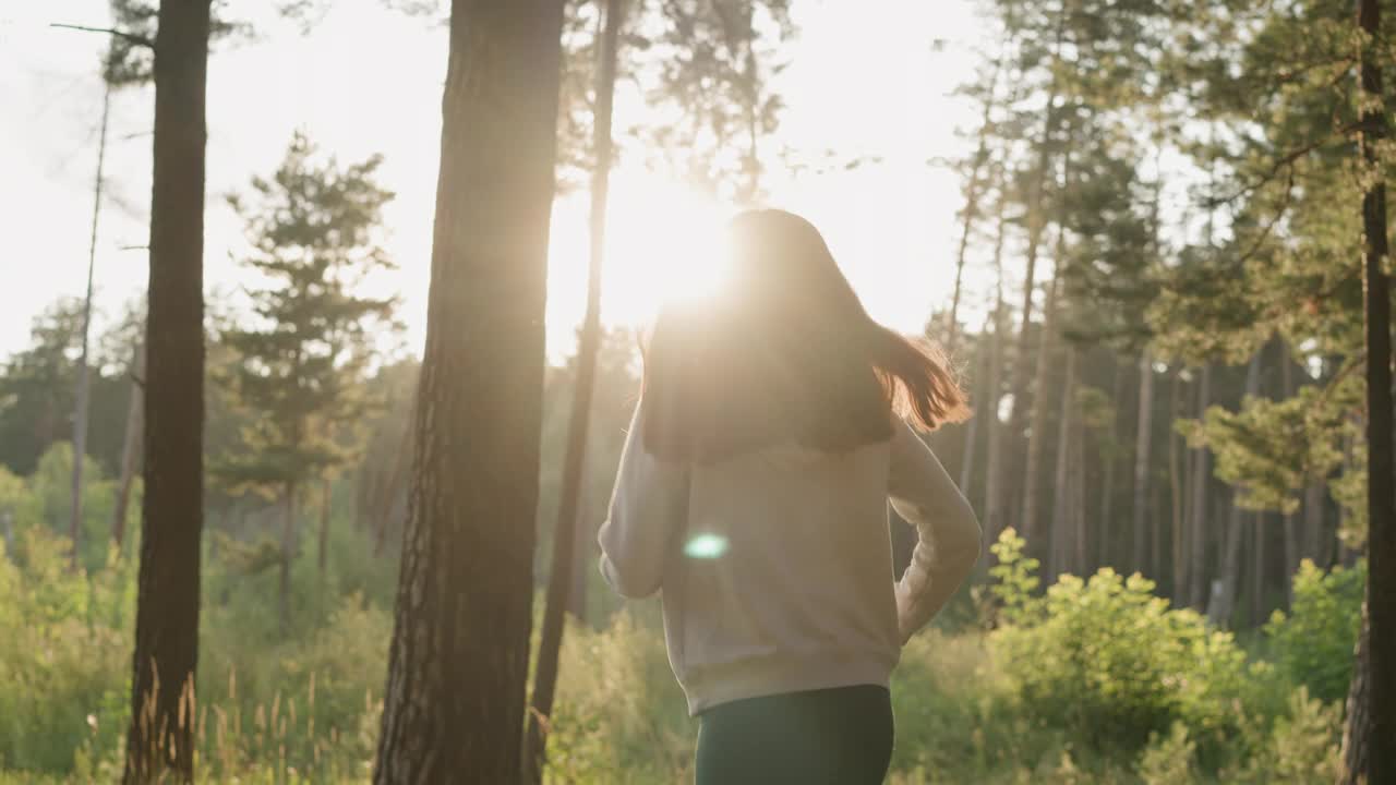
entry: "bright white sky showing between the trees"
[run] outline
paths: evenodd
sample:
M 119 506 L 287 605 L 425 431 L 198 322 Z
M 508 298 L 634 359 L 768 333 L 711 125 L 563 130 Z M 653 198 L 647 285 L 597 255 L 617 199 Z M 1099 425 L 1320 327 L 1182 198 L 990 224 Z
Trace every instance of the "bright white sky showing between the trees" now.
M 223 43 L 209 63 L 208 217 L 209 292 L 247 279 L 236 261 L 242 226 L 221 198 L 244 190 L 281 161 L 295 129 L 304 129 L 341 162 L 374 152 L 381 182 L 398 197 L 385 211 L 387 247 L 401 270 L 377 285 L 401 291 L 406 348 L 426 334 L 431 218 L 440 140 L 445 31 L 383 8 L 376 0 L 336 3 L 309 36 L 267 11 L 248 21 L 251 42 Z M 799 0 L 800 27 L 786 47 L 778 89 L 789 106 L 776 144 L 797 158 L 832 149 L 850 159 L 879 156 L 853 170 L 794 175 L 768 162 L 768 204 L 805 215 L 828 239 L 874 317 L 919 331 L 945 307 L 953 282 L 960 204 L 953 173 L 928 165 L 965 144 L 956 127 L 973 108 L 949 96 L 974 67 L 981 25 L 972 0 Z M 101 35 L 53 29 L 50 22 L 109 24 L 106 0 L 6 3 L 0 8 L 0 358 L 24 348 L 32 318 L 59 296 L 80 296 L 88 260 L 92 179 L 102 85 Z M 934 39 L 945 39 L 941 49 Z M 145 286 L 151 176 L 152 91 L 127 89 L 112 105 L 103 200 L 96 242 L 94 335 Z M 645 108 L 618 101 L 617 129 L 642 126 Z M 702 247 L 725 214 L 641 155 L 614 175 L 604 310 L 611 323 L 646 316 L 664 278 L 664 249 Z M 127 250 L 123 250 L 127 249 Z M 688 253 L 691 257 L 692 253 Z M 586 278 L 586 198 L 554 205 L 549 274 L 549 346 L 571 351 Z M 973 281 L 972 300 L 987 291 Z

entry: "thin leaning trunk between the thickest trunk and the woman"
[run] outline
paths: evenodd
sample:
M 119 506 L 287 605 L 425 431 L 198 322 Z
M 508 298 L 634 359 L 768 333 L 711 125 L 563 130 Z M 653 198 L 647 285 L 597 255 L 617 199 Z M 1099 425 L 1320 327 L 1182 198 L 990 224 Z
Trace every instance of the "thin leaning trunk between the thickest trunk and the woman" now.
M 543 781 L 543 768 L 547 763 L 546 725 L 553 715 L 558 656 L 563 648 L 564 612 L 572 588 L 578 499 L 586 462 L 586 434 L 592 420 L 596 355 L 600 352 L 602 344 L 602 263 L 606 254 L 606 200 L 610 190 L 611 168 L 611 102 L 616 95 L 616 59 L 624 13 L 624 0 L 607 0 L 606 27 L 602 31 L 600 64 L 596 77 L 596 113 L 592 123 L 596 168 L 592 170 L 586 316 L 582 321 L 582 337 L 577 351 L 577 390 L 572 395 L 572 411 L 568 419 L 563 490 L 558 499 L 557 522 L 553 527 L 553 560 L 547 578 L 547 599 L 543 606 L 543 633 L 537 650 L 537 668 L 533 673 L 533 698 L 528 715 L 528 747 L 524 768 L 525 779 L 533 784 Z M 755 144 L 754 138 L 752 144 Z M 752 156 L 755 156 L 755 149 L 752 149 Z

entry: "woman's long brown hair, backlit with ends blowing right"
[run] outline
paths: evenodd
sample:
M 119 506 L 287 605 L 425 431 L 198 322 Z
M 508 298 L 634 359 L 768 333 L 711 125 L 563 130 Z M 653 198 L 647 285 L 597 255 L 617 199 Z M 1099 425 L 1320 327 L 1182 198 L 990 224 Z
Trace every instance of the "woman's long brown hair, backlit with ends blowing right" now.
M 711 462 L 782 441 L 840 453 L 969 418 L 928 341 L 874 321 L 808 221 L 779 210 L 729 225 L 719 296 L 669 303 L 645 351 L 644 446 Z

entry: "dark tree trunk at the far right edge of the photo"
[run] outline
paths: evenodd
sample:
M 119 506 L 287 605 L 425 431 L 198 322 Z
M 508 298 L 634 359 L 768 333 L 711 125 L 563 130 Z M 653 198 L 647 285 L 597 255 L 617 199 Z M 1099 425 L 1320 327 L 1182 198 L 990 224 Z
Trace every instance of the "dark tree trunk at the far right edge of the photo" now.
M 1367 778 L 1371 785 L 1396 782 L 1396 450 L 1392 433 L 1392 321 L 1390 279 L 1386 274 L 1386 183 L 1378 148 L 1386 140 L 1386 108 L 1382 92 L 1381 3 L 1358 0 L 1361 45 L 1361 151 L 1364 175 L 1371 177 L 1362 194 L 1362 271 L 1367 334 L 1367 638 L 1364 694 L 1354 689 L 1349 705 L 1350 751 L 1368 747 Z M 1365 728 L 1362 719 L 1367 719 Z M 1360 756 L 1349 770 L 1361 772 Z

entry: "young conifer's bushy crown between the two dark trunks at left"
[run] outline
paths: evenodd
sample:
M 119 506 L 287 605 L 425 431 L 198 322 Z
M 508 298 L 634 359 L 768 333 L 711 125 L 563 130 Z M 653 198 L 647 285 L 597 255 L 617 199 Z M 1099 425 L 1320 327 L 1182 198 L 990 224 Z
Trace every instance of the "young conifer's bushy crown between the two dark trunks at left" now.
M 236 401 L 257 416 L 242 450 L 218 467 L 229 486 L 293 487 L 346 462 L 371 406 L 363 395 L 380 335 L 396 328 L 396 300 L 363 296 L 364 281 L 392 268 L 381 240 L 383 205 L 392 193 L 374 180 L 373 156 L 341 168 L 318 161 L 297 133 L 268 180 L 253 179 L 255 200 L 229 197 L 247 223 L 247 265 L 267 284 L 250 292 L 253 316 L 223 331 L 233 349 Z

